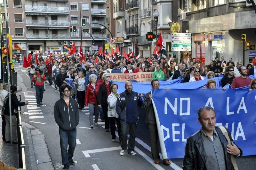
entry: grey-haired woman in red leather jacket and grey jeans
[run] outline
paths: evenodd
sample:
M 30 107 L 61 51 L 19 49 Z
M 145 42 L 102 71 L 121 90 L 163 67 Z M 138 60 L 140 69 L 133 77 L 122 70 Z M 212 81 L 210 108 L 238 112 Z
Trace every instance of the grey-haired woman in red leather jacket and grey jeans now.
M 98 93 L 99 93 L 99 84 L 97 83 L 97 76 L 95 74 L 91 74 L 89 76 L 90 83 L 86 86 L 85 93 L 85 106 L 89 105 L 89 121 L 90 127 L 93 128 L 93 125 L 99 126 L 98 118 L 100 113 L 100 108 L 98 107 Z M 94 111 L 95 109 L 95 111 Z M 95 112 L 95 118 L 93 122 L 93 113 Z

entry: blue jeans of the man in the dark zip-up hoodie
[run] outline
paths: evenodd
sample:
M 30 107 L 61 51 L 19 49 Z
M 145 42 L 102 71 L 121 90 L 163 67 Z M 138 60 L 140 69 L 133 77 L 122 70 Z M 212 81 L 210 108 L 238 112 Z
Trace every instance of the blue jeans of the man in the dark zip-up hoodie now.
M 59 134 L 62 165 L 70 166 L 76 148 L 76 129 L 66 131 L 59 127 Z

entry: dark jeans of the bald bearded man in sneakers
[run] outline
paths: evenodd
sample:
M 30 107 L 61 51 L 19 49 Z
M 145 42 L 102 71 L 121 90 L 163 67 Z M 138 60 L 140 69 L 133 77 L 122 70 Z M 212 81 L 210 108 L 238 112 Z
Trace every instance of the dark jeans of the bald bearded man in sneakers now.
M 126 123 L 121 121 L 121 147 L 123 150 L 126 150 L 127 148 L 127 135 L 129 134 L 128 152 L 134 151 L 136 129 L 136 123 Z

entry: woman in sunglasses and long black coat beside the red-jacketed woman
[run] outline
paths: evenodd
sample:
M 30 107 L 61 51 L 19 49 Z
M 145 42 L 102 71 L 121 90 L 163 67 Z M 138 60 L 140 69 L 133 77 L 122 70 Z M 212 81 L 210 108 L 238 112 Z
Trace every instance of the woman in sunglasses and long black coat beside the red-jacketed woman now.
M 99 97 L 98 97 L 98 106 L 102 106 L 102 111 L 104 113 L 105 119 L 105 132 L 109 132 L 109 120 L 108 120 L 108 95 L 110 95 L 110 86 L 111 82 L 109 82 L 109 73 L 104 73 L 102 75 L 102 79 L 104 81 L 103 84 L 100 85 L 99 88 Z

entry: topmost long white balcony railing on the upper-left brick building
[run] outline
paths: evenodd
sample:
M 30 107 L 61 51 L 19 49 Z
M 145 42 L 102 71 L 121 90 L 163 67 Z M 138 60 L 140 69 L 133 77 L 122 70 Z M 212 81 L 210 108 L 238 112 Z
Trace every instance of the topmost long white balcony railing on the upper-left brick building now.
M 58 13 L 69 13 L 67 7 L 53 7 L 53 6 L 33 6 L 26 5 L 25 12 L 58 12 Z

